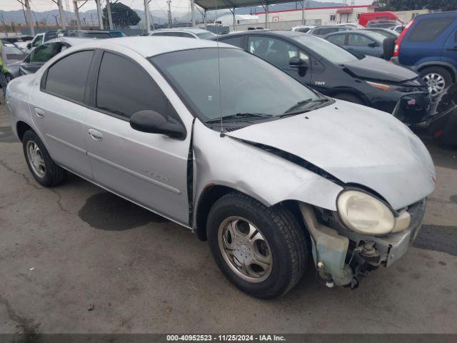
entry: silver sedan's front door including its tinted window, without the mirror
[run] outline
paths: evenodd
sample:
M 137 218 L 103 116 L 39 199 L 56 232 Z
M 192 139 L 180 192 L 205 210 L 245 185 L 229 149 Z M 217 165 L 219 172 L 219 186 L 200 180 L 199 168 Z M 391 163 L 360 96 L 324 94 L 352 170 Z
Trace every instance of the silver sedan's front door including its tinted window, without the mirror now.
M 129 124 L 134 113 L 144 110 L 179 119 L 149 72 L 126 56 L 105 51 L 92 107 L 85 136 L 94 180 L 154 212 L 189 224 L 190 128 L 186 139 L 179 140 L 136 131 Z

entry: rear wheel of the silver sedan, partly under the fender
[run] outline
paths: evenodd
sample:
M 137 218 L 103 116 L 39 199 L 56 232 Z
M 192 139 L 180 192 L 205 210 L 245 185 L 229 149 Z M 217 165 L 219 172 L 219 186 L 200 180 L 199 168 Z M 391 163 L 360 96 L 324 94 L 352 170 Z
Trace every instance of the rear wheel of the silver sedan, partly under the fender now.
M 34 131 L 27 130 L 24 133 L 22 146 L 27 166 L 36 182 L 44 187 L 52 187 L 64 182 L 66 170 L 51 159 L 43 142 Z

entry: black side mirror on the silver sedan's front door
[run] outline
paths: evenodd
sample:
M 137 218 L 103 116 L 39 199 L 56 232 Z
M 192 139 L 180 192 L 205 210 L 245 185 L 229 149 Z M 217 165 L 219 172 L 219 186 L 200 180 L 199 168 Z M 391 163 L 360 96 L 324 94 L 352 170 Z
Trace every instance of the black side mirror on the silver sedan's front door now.
M 178 120 L 168 117 L 156 111 L 145 110 L 136 112 L 130 118 L 132 129 L 149 134 L 164 134 L 176 139 L 186 138 L 186 129 Z

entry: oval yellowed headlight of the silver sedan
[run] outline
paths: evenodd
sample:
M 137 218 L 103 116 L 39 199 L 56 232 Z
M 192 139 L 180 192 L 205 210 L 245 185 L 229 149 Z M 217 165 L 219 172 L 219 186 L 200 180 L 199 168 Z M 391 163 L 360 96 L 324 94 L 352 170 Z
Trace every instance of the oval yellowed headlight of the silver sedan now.
M 338 196 L 338 214 L 346 226 L 362 234 L 388 234 L 395 217 L 386 204 L 370 194 L 348 190 Z

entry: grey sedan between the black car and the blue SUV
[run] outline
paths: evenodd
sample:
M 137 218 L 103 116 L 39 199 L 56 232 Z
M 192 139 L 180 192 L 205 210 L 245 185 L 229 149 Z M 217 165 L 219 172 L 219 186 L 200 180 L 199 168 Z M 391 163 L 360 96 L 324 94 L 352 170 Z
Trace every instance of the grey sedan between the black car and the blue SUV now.
M 355 54 L 384 58 L 383 42 L 386 37 L 376 32 L 364 30 L 337 32 L 323 38 Z M 393 50 L 393 46 L 391 49 Z

